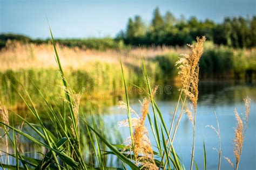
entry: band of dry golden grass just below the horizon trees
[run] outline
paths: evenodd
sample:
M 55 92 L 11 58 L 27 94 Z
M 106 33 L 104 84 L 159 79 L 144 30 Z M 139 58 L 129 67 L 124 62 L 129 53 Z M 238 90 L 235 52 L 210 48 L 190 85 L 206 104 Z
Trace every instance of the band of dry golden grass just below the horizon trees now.
M 167 53 L 184 53 L 188 48 L 173 47 L 151 47 L 151 48 L 132 48 L 107 49 L 97 51 L 95 49 L 69 48 L 57 45 L 58 53 L 62 66 L 65 69 L 90 69 L 91 62 L 116 63 L 119 67 L 119 56 L 124 63 L 141 66 L 142 56 L 145 59 L 154 58 L 158 55 Z M 56 68 L 53 59 L 53 48 L 51 44 L 21 44 L 20 42 L 9 42 L 6 48 L 0 52 L 0 71 L 12 69 L 28 68 Z

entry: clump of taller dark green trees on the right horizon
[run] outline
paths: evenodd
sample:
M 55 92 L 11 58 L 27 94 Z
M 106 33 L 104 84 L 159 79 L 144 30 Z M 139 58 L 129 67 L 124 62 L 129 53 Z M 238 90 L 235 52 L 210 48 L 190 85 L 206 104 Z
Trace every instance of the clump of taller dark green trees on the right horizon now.
M 117 39 L 125 44 L 183 46 L 197 36 L 206 36 L 217 45 L 235 48 L 256 46 L 256 16 L 226 17 L 222 23 L 210 19 L 204 21 L 196 17 L 176 18 L 170 11 L 161 16 L 159 8 L 153 11 L 150 24 L 145 24 L 140 16 L 129 18 L 125 31 L 120 31 Z

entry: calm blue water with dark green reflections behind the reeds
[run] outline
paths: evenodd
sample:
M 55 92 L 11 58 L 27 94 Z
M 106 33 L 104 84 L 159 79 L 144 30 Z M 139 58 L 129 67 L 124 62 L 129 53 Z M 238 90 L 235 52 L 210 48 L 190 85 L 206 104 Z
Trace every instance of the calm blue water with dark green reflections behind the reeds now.
M 174 107 L 177 104 L 178 88 L 172 87 L 168 94 L 158 94 L 156 101 L 161 110 L 167 128 L 170 128 Z M 246 96 L 251 98 L 251 115 L 248 121 L 248 129 L 246 131 L 245 143 L 242 150 L 239 169 L 256 169 L 256 84 L 240 83 L 240 82 L 200 82 L 199 99 L 197 108 L 197 125 L 196 125 L 196 151 L 195 161 L 199 169 L 204 169 L 204 151 L 203 140 L 205 140 L 207 154 L 207 169 L 217 169 L 219 154 L 213 148 L 219 147 L 218 136 L 206 125 L 213 125 L 217 128 L 217 121 L 214 112 L 216 112 L 220 123 L 221 147 L 223 157 L 221 158 L 221 169 L 232 169 L 224 159 L 228 157 L 235 163 L 233 155 L 233 138 L 234 127 L 237 121 L 234 116 L 234 109 L 239 113 L 245 113 L 245 105 L 243 98 Z M 131 97 L 131 108 L 140 113 L 140 104 L 138 100 L 142 100 L 143 96 Z M 118 99 L 115 100 L 116 103 Z M 130 136 L 129 128 L 118 127 L 118 122 L 127 118 L 126 111 L 119 109 L 116 105 L 100 109 L 103 114 L 104 121 L 113 124 L 115 128 L 122 134 L 123 140 Z M 150 115 L 152 117 L 152 110 Z M 179 114 L 179 111 L 178 111 Z M 151 132 L 149 123 L 146 121 L 146 127 L 149 130 L 149 136 L 153 145 L 153 150 L 157 150 L 154 137 Z M 174 148 L 177 154 L 183 160 L 185 167 L 190 167 L 191 151 L 192 151 L 193 129 L 192 124 L 188 121 L 186 115 L 181 119 L 179 129 L 174 140 Z M 23 142 L 23 150 L 32 151 L 27 155 L 30 157 L 38 157 L 31 143 Z M 11 160 L 14 164 L 15 159 Z

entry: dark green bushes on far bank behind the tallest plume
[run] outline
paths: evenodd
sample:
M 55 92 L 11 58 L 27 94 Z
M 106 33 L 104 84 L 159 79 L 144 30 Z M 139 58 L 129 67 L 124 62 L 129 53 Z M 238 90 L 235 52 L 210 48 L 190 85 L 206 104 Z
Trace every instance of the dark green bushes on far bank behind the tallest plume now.
M 177 76 L 175 63 L 178 58 L 177 53 L 156 57 L 163 79 Z M 252 81 L 256 79 L 256 49 L 235 49 L 208 42 L 199 65 L 200 79 Z

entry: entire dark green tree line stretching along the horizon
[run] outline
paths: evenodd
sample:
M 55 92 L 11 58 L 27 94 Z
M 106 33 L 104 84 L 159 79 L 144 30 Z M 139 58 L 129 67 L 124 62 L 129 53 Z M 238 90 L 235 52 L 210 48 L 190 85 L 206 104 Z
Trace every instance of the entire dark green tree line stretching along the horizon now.
M 191 44 L 198 36 L 206 36 L 207 40 L 217 45 L 234 48 L 255 47 L 256 16 L 226 17 L 222 23 L 214 23 L 213 20 L 198 20 L 196 17 L 176 18 L 170 11 L 162 16 L 159 8 L 156 8 L 149 24 L 146 24 L 140 16 L 129 18 L 126 29 L 120 31 L 115 38 L 56 39 L 56 41 L 68 47 L 105 50 L 138 45 L 184 46 Z M 8 40 L 34 44 L 51 42 L 50 39 L 31 39 L 18 34 L 0 34 L 0 48 L 5 47 Z

